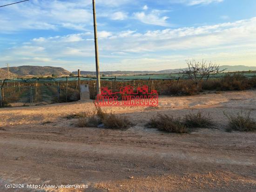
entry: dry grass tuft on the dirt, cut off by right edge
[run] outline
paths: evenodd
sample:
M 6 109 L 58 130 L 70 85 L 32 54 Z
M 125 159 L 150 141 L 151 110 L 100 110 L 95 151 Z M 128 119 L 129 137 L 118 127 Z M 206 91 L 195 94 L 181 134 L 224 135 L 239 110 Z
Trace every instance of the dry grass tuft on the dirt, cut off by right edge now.
M 256 122 L 250 118 L 250 112 L 243 113 L 243 111 L 241 111 L 236 114 L 223 113 L 229 119 L 229 125 L 227 127 L 228 132 L 232 130 L 241 132 L 256 131 Z

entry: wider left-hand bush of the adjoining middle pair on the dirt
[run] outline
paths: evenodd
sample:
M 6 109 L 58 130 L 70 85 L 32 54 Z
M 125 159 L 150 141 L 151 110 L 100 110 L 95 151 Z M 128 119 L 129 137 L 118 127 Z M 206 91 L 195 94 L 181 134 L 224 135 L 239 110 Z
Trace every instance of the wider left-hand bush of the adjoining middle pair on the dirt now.
M 157 114 L 156 118 L 151 118 L 147 126 L 157 128 L 160 131 L 175 132 L 175 133 L 188 133 L 189 130 L 180 118 L 173 116 Z

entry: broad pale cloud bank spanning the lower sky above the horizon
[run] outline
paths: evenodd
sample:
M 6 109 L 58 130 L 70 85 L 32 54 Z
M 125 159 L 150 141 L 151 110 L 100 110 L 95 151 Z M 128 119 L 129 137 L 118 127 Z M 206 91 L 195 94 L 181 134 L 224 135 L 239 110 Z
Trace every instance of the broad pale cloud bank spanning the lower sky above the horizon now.
M 255 65 L 256 18 L 146 33 L 99 31 L 99 48 L 102 70 L 140 70 L 146 66 L 151 66 L 146 70 L 176 68 L 170 63 L 182 64 L 188 58 L 208 59 L 223 65 L 228 62 Z M 179 55 L 176 55 L 177 52 Z M 90 66 L 89 69 L 93 70 L 93 33 L 37 38 L 26 45 L 15 45 L 4 50 L 0 55 L 2 63 L 42 63 L 67 66 L 68 69 L 80 65 Z

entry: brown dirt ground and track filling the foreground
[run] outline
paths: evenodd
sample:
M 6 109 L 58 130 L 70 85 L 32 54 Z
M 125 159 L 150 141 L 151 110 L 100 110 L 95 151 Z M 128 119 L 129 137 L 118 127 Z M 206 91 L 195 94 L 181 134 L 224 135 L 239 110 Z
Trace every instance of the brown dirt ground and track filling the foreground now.
M 256 132 L 225 132 L 228 113 L 251 111 L 256 91 L 161 96 L 159 107 L 113 107 L 136 126 L 126 130 L 76 127 L 70 114 L 92 101 L 0 109 L 0 192 L 255 192 Z M 157 113 L 209 113 L 215 126 L 189 134 L 145 128 Z M 6 184 L 25 184 L 7 189 Z M 88 185 L 87 189 L 28 189 Z

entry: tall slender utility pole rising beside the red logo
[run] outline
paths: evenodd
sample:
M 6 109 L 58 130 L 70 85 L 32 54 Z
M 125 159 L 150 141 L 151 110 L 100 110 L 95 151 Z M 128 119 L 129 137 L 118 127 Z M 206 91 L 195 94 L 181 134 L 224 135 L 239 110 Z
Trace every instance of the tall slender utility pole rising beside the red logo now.
M 95 0 L 93 0 L 93 11 L 94 11 L 94 44 L 95 44 L 97 93 L 101 94 L 101 75 L 100 75 L 99 52 L 98 52 L 98 37 L 97 37 L 97 20 L 96 20 Z

